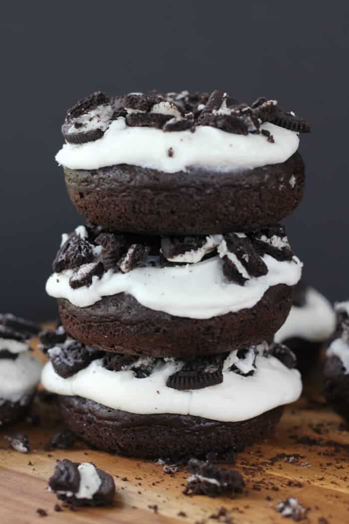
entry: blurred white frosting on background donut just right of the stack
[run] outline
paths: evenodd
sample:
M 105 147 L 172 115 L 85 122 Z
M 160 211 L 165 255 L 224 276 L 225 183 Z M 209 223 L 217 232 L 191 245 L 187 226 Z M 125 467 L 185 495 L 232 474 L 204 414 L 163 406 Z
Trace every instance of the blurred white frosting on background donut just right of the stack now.
M 285 324 L 275 334 L 276 342 L 300 337 L 310 342 L 322 342 L 334 331 L 335 314 L 331 303 L 316 289 L 309 288 L 306 304 L 292 306 Z

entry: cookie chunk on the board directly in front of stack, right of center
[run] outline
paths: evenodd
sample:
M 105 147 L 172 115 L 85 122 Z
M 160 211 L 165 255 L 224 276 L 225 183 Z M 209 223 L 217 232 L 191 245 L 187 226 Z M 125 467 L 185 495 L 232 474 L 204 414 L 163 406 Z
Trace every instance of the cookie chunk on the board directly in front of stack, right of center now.
M 187 479 L 184 495 L 207 495 L 209 497 L 234 497 L 244 488 L 244 480 L 238 471 L 191 459 L 187 465 L 192 475 Z

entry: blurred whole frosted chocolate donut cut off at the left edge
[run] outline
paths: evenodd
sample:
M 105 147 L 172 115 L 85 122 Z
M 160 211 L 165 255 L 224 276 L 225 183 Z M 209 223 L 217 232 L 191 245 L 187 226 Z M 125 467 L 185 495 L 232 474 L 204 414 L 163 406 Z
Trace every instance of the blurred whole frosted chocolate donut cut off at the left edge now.
M 41 363 L 29 341 L 39 327 L 12 314 L 0 314 L 0 425 L 23 419 L 40 381 Z

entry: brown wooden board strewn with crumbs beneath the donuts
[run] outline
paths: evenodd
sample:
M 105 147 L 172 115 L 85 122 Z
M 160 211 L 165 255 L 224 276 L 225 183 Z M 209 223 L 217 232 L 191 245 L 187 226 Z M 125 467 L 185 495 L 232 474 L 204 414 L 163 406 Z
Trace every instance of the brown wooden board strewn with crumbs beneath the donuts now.
M 160 465 L 92 451 L 80 441 L 71 450 L 44 451 L 61 424 L 53 405 L 37 402 L 39 427 L 22 423 L 0 430 L 0 524 L 286 524 L 289 520 L 275 506 L 287 497 L 296 497 L 310 508 L 307 522 L 349 522 L 349 432 L 324 405 L 318 389 L 317 384 L 308 384 L 303 398 L 285 410 L 276 434 L 249 447 L 235 465 L 227 466 L 239 470 L 246 482 L 245 493 L 235 499 L 184 496 L 185 469 L 171 476 Z M 28 454 L 8 447 L 6 437 L 19 431 L 29 437 Z M 47 481 L 55 460 L 63 458 L 93 462 L 114 475 L 114 505 L 54 511 L 57 499 L 48 492 Z M 226 515 L 217 518 L 222 507 Z M 38 508 L 48 516 L 40 517 Z

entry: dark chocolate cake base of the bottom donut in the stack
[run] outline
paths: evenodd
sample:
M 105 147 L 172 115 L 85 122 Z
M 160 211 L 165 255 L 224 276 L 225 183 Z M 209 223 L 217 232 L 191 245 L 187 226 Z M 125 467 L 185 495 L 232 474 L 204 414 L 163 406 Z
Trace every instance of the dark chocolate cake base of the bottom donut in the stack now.
M 65 423 L 89 445 L 144 459 L 221 454 L 259 441 L 274 429 L 283 407 L 242 422 L 176 414 L 133 414 L 81 397 L 58 397 Z

